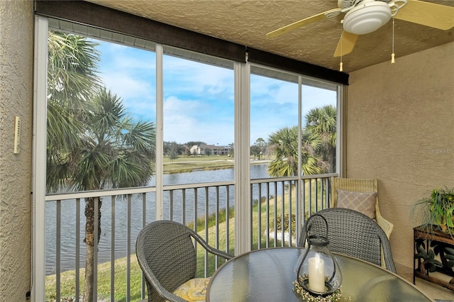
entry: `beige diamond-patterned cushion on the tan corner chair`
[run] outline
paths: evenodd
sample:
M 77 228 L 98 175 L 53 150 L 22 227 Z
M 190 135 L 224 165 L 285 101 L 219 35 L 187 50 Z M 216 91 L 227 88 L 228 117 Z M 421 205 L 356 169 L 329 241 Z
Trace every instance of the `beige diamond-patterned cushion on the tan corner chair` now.
M 338 208 L 351 208 L 375 219 L 377 192 L 351 192 L 338 189 Z

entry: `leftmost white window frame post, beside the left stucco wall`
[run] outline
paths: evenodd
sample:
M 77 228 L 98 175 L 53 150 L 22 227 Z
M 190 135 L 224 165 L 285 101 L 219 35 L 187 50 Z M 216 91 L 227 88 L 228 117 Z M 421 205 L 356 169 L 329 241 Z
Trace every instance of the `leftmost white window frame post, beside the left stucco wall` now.
M 33 91 L 33 291 L 31 301 L 45 301 L 45 179 L 48 74 L 48 18 L 35 18 Z

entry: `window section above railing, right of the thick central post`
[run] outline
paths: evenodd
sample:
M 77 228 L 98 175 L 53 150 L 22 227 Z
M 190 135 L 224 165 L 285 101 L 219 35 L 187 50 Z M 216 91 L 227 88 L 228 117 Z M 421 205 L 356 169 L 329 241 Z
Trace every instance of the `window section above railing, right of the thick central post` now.
M 251 178 L 336 172 L 337 100 L 336 85 L 253 66 Z

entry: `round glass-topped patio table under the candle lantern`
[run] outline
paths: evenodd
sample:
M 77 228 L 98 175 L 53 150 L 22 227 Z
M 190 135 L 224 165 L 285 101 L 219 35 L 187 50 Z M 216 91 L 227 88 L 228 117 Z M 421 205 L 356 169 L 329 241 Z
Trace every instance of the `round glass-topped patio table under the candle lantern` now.
M 304 248 L 272 247 L 238 255 L 211 276 L 206 301 L 301 301 L 294 292 Z M 340 301 L 433 301 L 401 276 L 375 264 L 333 254 L 342 272 Z M 350 299 L 351 300 L 350 300 Z

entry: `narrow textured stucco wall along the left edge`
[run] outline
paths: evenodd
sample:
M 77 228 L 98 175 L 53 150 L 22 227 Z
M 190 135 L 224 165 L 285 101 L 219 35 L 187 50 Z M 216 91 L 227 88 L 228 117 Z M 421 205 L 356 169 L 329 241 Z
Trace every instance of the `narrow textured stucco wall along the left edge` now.
M 33 1 L 0 1 L 0 301 L 26 301 L 31 280 Z M 21 147 L 13 154 L 14 117 Z

